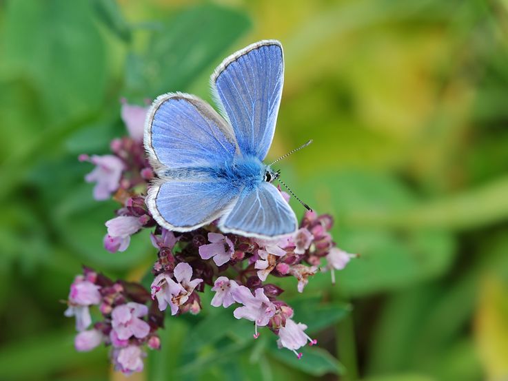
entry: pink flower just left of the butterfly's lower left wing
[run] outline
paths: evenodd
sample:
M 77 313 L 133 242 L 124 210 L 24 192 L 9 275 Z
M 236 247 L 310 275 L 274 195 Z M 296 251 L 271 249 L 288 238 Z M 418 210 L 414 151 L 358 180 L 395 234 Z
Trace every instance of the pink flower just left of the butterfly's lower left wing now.
M 104 237 L 104 247 L 114 253 L 125 251 L 129 247 L 130 236 L 139 231 L 145 218 L 134 216 L 118 216 L 106 221 L 108 234 Z

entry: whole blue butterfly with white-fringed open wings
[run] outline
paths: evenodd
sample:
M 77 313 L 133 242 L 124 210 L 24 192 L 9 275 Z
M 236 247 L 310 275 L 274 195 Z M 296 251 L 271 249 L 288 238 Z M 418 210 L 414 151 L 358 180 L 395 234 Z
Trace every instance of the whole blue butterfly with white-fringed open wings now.
M 220 218 L 223 232 L 276 238 L 298 229 L 263 160 L 275 132 L 284 81 L 279 41 L 227 57 L 210 79 L 221 115 L 194 95 L 159 96 L 144 143 L 158 179 L 146 203 L 157 223 L 190 231 Z

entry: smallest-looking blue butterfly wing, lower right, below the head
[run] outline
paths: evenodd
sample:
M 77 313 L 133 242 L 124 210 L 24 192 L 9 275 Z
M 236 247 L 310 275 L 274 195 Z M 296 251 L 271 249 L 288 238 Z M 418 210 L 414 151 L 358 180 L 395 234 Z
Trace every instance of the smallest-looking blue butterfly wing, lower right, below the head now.
M 281 192 L 270 183 L 245 187 L 229 214 L 221 218 L 222 231 L 258 238 L 292 234 L 298 221 Z

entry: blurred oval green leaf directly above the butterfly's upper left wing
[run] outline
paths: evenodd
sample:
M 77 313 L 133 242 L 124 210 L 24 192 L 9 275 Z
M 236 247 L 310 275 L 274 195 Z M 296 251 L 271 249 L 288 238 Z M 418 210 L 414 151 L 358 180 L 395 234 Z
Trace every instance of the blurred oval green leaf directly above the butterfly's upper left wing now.
M 128 92 L 154 98 L 185 90 L 249 26 L 250 21 L 242 12 L 212 4 L 175 14 L 152 32 L 145 52 L 128 56 Z

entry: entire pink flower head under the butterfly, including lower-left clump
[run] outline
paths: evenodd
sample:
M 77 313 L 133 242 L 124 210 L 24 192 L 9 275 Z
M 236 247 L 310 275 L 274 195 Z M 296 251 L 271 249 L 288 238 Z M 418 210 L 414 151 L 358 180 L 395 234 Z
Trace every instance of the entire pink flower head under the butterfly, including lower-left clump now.
M 115 139 L 110 155 L 81 155 L 80 160 L 96 165 L 85 177 L 96 183 L 94 197 L 103 200 L 113 196 L 121 204 L 116 216 L 105 223 L 105 249 L 125 251 L 132 235 L 150 229 L 157 250 L 151 269 L 154 279 L 148 291 L 139 284 L 112 282 L 85 269 L 71 286 L 65 311 L 66 316 L 76 317 L 77 350 L 90 350 L 103 342 L 112 346 L 116 369 L 123 373 L 141 371 L 143 347 L 160 346 L 155 332 L 162 327 L 165 312 L 172 316 L 199 313 L 203 307 L 199 293 L 208 285 L 214 291 L 213 307 L 236 305 L 234 317 L 254 323 L 254 338 L 258 338 L 261 327 L 267 327 L 278 336 L 279 347 L 301 358 L 298 349 L 307 343 L 316 344 L 316 340 L 305 333 L 307 326 L 294 320 L 292 307 L 281 300 L 284 290 L 269 280 L 296 278 L 298 292 L 303 292 L 309 277 L 318 271 L 331 271 L 335 282 L 334 271 L 343 269 L 354 255 L 336 247 L 329 234 L 332 217 L 307 212 L 296 234 L 276 240 L 223 234 L 214 223 L 185 233 L 164 229 L 145 205 L 146 189 L 154 176 L 141 141 L 146 112 L 145 107 L 124 102 L 122 117 L 130 137 Z M 285 192 L 282 194 L 289 200 Z M 92 324 L 92 305 L 99 306 L 103 320 L 87 331 Z

